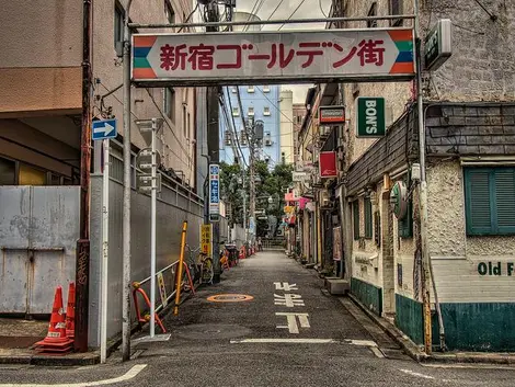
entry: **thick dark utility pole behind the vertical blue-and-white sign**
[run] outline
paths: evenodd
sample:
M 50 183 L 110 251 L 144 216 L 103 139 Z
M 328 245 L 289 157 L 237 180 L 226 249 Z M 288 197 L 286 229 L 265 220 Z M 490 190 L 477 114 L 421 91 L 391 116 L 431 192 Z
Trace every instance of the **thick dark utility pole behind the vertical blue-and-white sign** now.
M 218 4 L 210 1 L 207 5 L 207 21 L 218 22 Z M 208 26 L 207 32 L 217 32 L 218 27 Z M 207 88 L 207 152 L 209 155 L 209 162 L 218 164 L 220 162 L 220 136 L 219 136 L 219 104 L 218 104 L 219 87 Z M 204 203 L 205 206 L 209 202 Z M 220 223 L 213 223 L 213 266 L 215 275 L 214 283 L 220 282 Z

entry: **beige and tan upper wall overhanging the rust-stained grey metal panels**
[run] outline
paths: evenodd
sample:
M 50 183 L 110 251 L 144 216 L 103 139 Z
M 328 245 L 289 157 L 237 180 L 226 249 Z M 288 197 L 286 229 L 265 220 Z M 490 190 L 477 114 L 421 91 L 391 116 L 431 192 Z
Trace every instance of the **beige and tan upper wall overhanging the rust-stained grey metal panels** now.
M 2 2 L 0 114 L 79 110 L 82 1 Z

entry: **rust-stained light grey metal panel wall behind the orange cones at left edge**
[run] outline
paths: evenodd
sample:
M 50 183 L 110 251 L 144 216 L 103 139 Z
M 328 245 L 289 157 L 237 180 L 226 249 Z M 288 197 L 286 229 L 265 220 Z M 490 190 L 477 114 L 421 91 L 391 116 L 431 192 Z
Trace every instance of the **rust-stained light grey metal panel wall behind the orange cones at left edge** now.
M 0 314 L 50 314 L 58 285 L 66 297 L 79 201 L 79 186 L 0 187 Z

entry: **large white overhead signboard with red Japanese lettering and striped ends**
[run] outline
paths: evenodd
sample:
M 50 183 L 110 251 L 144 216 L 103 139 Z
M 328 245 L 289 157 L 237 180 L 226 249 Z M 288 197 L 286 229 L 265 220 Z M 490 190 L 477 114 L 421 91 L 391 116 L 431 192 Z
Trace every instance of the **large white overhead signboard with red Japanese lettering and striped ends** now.
M 133 36 L 139 84 L 399 80 L 414 71 L 411 29 Z

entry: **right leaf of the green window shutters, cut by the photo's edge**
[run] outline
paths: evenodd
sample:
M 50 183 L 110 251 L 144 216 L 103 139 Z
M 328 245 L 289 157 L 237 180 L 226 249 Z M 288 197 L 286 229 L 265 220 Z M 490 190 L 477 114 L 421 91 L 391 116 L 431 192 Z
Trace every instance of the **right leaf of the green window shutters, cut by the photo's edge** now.
M 497 168 L 494 171 L 495 234 L 515 234 L 515 168 Z

